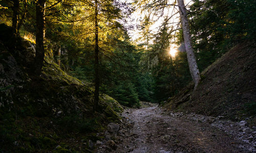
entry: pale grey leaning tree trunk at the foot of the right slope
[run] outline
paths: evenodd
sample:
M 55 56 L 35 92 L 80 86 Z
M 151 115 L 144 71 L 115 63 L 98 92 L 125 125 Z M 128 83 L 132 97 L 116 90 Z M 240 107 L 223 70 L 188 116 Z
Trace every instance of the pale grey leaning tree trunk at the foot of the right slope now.
M 194 90 L 195 90 L 201 80 L 200 72 L 197 66 L 197 61 L 196 61 L 195 54 L 192 47 L 191 35 L 189 32 L 189 22 L 187 18 L 187 12 L 184 5 L 184 1 L 178 0 L 177 2 L 179 6 L 179 13 L 180 13 L 180 18 L 182 23 L 183 37 L 184 37 L 184 43 L 185 43 L 185 48 L 187 52 L 187 61 L 188 61 L 189 71 L 193 79 L 193 82 L 195 83 L 195 87 L 194 87 Z

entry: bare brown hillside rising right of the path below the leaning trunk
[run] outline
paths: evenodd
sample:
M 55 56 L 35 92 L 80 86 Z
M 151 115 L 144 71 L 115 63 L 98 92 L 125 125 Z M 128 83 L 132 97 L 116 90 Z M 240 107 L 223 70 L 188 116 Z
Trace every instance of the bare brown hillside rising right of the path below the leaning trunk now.
M 189 84 L 165 105 L 169 110 L 224 116 L 256 123 L 256 43 L 231 48 L 202 72 L 202 81 L 193 92 Z

